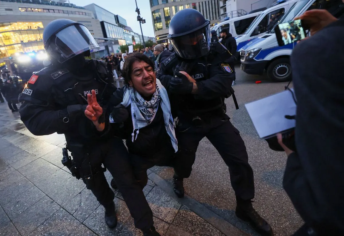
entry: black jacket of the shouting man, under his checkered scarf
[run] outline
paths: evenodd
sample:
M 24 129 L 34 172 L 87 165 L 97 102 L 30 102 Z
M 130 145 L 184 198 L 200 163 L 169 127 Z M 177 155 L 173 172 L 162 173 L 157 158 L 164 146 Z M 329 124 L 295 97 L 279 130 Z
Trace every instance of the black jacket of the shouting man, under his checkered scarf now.
M 161 84 L 169 92 L 170 82 L 169 80 L 162 80 Z M 113 94 L 110 99 L 111 107 L 117 106 L 123 101 L 124 87 L 119 88 Z M 131 105 L 127 107 L 129 117 L 123 122 L 123 127 L 121 124 L 112 123 L 111 130 L 114 132 L 115 136 L 126 139 L 126 145 L 128 151 L 131 154 L 136 154 L 141 157 L 149 158 L 154 152 L 158 152 L 161 149 L 171 149 L 171 153 L 174 153 L 170 136 L 165 129 L 165 123 L 163 118 L 163 112 L 161 106 L 159 106 L 157 113 L 151 124 L 141 128 L 137 139 L 132 142 L 131 133 L 133 132 L 133 124 L 131 120 Z

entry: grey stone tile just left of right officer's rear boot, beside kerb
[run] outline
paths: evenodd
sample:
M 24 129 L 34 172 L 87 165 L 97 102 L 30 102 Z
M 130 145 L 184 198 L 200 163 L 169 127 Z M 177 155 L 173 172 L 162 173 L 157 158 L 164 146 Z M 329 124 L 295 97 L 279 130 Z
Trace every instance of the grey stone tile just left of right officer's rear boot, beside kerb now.
M 168 223 L 172 223 L 174 217 L 179 211 L 179 208 L 182 206 L 182 204 L 170 197 L 157 186 L 153 187 L 146 198 L 152 209 L 153 215 Z

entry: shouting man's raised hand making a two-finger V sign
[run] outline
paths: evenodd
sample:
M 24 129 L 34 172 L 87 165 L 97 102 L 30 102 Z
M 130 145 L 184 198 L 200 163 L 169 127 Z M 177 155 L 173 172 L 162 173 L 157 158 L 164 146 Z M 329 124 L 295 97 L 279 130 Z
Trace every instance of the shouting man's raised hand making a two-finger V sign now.
M 103 131 L 105 123 L 99 124 L 98 122 L 99 117 L 103 114 L 103 108 L 97 102 L 96 91 L 94 89 L 92 90 L 92 95 L 87 94 L 87 103 L 85 116 L 93 121 L 98 131 Z

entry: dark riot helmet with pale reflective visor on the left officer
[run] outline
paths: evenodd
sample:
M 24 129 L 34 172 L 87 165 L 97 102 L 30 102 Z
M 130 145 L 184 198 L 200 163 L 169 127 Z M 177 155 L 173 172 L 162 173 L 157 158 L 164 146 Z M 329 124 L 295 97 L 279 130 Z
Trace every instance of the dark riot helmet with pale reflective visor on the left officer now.
M 43 31 L 43 43 L 46 53 L 60 63 L 90 49 L 100 49 L 85 25 L 68 19 L 50 22 Z

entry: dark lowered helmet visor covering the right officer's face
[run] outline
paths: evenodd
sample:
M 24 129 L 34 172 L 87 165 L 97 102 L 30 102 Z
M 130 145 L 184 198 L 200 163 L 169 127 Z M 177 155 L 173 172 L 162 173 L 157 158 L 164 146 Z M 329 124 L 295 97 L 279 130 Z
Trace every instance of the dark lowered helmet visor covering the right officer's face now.
M 209 24 L 195 32 L 170 39 L 175 52 L 182 58 L 193 59 L 204 56 L 210 50 Z

